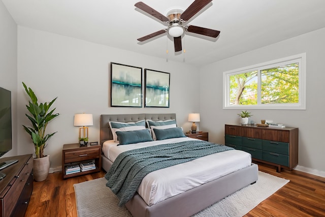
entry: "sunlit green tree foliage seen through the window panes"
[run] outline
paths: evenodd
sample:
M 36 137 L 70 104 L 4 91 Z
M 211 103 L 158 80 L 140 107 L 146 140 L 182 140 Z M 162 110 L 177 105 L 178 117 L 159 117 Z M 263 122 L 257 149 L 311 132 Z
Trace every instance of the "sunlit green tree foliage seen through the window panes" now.
M 258 71 L 230 76 L 232 105 L 257 104 Z M 261 103 L 299 102 L 299 64 L 289 64 L 261 70 Z

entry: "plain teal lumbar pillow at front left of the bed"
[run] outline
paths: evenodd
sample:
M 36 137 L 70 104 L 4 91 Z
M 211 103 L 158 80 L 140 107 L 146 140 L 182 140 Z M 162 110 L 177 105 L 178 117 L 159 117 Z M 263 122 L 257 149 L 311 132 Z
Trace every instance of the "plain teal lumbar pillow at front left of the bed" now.
M 153 141 L 148 129 L 136 131 L 116 131 L 118 145 Z

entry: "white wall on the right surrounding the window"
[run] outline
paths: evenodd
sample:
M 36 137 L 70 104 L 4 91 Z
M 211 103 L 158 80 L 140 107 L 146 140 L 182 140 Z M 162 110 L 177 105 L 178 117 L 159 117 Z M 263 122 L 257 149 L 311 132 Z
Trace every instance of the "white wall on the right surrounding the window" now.
M 222 109 L 222 73 L 272 59 L 306 52 L 306 110 L 250 110 L 252 120 L 272 119 L 299 128 L 297 169 L 325 176 L 323 136 L 325 92 L 325 28 L 218 61 L 200 69 L 200 113 L 212 142 L 224 144 L 224 124 L 239 123 L 240 110 Z M 211 118 L 212 117 L 212 118 Z

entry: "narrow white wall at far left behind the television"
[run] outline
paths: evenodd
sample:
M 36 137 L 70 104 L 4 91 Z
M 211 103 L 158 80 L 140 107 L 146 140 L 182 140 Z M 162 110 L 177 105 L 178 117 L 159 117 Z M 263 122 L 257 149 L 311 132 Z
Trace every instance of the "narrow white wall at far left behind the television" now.
M 0 86 L 11 91 L 12 150 L 17 155 L 17 25 L 0 1 Z

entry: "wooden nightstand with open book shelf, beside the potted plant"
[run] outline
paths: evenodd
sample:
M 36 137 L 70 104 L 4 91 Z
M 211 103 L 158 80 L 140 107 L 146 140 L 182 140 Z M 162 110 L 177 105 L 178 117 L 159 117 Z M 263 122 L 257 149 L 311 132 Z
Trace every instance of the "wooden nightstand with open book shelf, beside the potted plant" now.
M 94 161 L 96 169 L 83 171 L 73 174 L 66 174 L 67 165 L 79 164 L 82 162 Z M 79 143 L 64 144 L 62 149 L 62 178 L 74 177 L 93 172 L 99 172 L 102 169 L 101 145 L 90 145 L 80 147 Z

